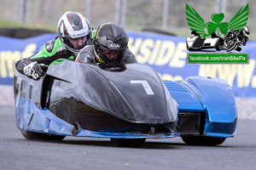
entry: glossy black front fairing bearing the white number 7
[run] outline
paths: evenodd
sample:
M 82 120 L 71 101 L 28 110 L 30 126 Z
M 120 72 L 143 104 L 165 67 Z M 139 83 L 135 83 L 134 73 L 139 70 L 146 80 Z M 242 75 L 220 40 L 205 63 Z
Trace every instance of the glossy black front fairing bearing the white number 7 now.
M 58 72 L 57 66 L 49 72 L 65 80 L 53 82 L 55 90 L 50 94 L 53 105 L 60 99 L 70 100 L 71 105 L 75 99 L 94 111 L 108 113 L 125 122 L 176 121 L 176 101 L 157 73 L 146 65 L 130 64 L 125 65 L 125 69 L 106 71 L 98 65 L 66 61 L 60 67 L 64 72 Z M 65 67 L 67 69 L 63 69 Z M 91 116 L 95 116 L 94 111 L 89 111 Z

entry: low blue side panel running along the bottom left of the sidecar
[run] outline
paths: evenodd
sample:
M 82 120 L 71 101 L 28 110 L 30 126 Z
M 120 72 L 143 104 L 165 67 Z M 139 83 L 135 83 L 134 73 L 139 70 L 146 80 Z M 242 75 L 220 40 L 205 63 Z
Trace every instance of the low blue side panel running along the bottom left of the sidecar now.
M 79 133 L 72 134 L 73 125 L 61 120 L 51 113 L 47 108 L 41 109 L 28 99 L 20 98 L 16 108 L 16 124 L 20 130 L 36 133 L 51 133 L 75 137 L 111 138 L 111 139 L 153 139 L 173 138 L 179 133 L 144 134 L 144 133 L 115 133 L 111 130 L 90 131 L 81 129 Z M 125 127 L 127 129 L 134 127 Z M 120 129 L 120 131 L 125 129 Z

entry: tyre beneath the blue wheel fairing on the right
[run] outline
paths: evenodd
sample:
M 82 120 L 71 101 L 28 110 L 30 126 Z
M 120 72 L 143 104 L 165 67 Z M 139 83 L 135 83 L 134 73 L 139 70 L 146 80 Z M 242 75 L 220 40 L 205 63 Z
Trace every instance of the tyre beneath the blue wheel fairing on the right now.
M 209 145 L 214 146 L 223 144 L 225 138 L 208 137 L 208 136 L 182 136 L 183 142 L 189 145 Z

